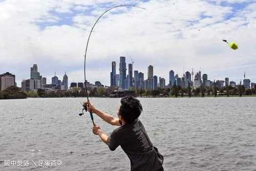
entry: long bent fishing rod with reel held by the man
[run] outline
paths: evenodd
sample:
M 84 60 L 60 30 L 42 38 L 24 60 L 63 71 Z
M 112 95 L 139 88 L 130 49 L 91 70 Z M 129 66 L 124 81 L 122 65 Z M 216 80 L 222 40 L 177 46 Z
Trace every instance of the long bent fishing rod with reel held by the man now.
M 119 7 L 135 7 L 135 8 L 140 8 L 140 9 L 146 10 L 145 8 L 138 7 L 138 6 L 136 6 L 136 5 L 118 5 L 118 6 L 112 7 L 112 8 L 110 8 L 110 9 L 106 10 L 105 12 L 103 12 L 103 13 L 98 17 L 98 19 L 96 20 L 96 22 L 94 23 L 94 25 L 93 25 L 93 27 L 92 27 L 92 29 L 91 29 L 91 32 L 90 32 L 90 34 L 89 34 L 88 40 L 87 40 L 86 52 L 85 52 L 85 54 L 84 54 L 84 68 L 83 68 L 83 71 L 84 71 L 84 83 L 85 83 L 85 88 L 86 88 L 86 97 L 87 97 L 87 101 L 89 101 L 89 97 L 88 97 L 87 80 L 86 80 L 86 55 L 87 55 L 87 50 L 88 50 L 88 45 L 89 45 L 89 40 L 90 40 L 91 34 L 92 34 L 92 32 L 93 32 L 94 27 L 95 27 L 96 24 L 98 23 L 99 19 L 100 19 L 105 13 L 107 13 L 108 11 L 110 11 L 110 10 L 112 10 L 112 9 L 114 9 L 114 8 L 119 8 Z M 88 103 L 83 103 L 83 104 L 82 104 L 83 109 L 82 109 L 82 113 L 80 113 L 79 116 L 82 116 L 82 115 L 83 115 L 83 111 L 86 111 L 86 112 L 88 111 L 88 110 L 87 110 L 87 107 L 88 107 L 87 105 L 88 105 Z M 91 116 L 91 120 L 92 120 L 92 122 L 93 122 L 93 125 L 95 125 L 94 120 L 93 120 L 93 113 L 92 113 L 92 111 L 90 111 L 90 116 Z

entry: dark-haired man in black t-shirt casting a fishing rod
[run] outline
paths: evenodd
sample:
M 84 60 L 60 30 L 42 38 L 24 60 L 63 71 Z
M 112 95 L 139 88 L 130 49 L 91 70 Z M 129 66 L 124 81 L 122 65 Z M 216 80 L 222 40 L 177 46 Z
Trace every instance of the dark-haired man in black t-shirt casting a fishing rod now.
M 99 111 L 89 101 L 88 109 L 104 121 L 120 126 L 108 136 L 103 133 L 98 125 L 94 125 L 93 133 L 99 135 L 111 151 L 114 151 L 120 145 L 131 161 L 131 171 L 163 170 L 163 156 L 153 146 L 143 124 L 138 119 L 142 112 L 142 105 L 138 99 L 132 96 L 122 98 L 117 111 L 118 118 Z

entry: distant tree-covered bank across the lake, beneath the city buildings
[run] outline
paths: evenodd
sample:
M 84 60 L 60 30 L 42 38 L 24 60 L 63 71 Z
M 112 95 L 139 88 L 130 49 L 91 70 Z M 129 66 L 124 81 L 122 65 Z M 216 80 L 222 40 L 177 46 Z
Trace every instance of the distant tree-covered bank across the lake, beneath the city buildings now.
M 89 97 L 120 98 L 126 95 L 145 98 L 181 98 L 181 97 L 256 97 L 256 89 L 157 89 L 157 90 L 127 90 L 115 91 L 111 89 L 95 88 L 89 91 Z M 0 91 L 0 99 L 24 99 L 32 98 L 61 98 L 61 97 L 86 97 L 83 90 L 37 90 L 21 91 L 20 88 L 11 86 Z

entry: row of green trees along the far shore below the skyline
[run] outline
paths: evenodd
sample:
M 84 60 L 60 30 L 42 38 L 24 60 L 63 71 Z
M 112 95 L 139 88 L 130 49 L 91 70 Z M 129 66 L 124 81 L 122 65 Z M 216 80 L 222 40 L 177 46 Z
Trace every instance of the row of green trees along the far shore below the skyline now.
M 115 91 L 114 88 L 93 88 L 89 91 L 89 97 L 109 97 Z M 223 87 L 218 88 L 214 86 L 212 88 L 209 87 L 199 87 L 196 89 L 192 89 L 190 86 L 184 89 L 180 86 L 174 85 L 172 88 L 166 89 L 156 89 L 156 90 L 144 90 L 139 89 L 135 90 L 134 88 L 130 89 L 130 92 L 137 97 L 205 97 L 205 96 L 249 96 L 256 95 L 256 86 L 252 89 L 246 90 L 243 85 L 239 85 L 237 88 L 233 87 Z M 27 97 L 86 97 L 86 91 L 73 89 L 72 91 L 45 91 L 39 89 L 37 91 L 21 91 L 20 88 L 11 86 L 4 91 L 0 91 L 0 99 L 22 99 Z

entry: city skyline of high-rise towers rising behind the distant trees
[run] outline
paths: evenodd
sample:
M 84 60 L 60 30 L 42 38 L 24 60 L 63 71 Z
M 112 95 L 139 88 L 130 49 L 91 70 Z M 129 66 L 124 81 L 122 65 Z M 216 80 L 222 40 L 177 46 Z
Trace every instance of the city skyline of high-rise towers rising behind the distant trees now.
M 123 63 L 123 64 L 121 65 L 121 63 Z M 120 73 L 120 67 L 122 67 L 123 71 L 125 71 L 125 73 L 126 73 L 126 70 L 127 70 L 126 69 L 126 58 L 125 58 L 125 56 L 120 56 L 119 69 L 116 69 L 116 61 L 112 61 L 112 70 L 111 71 L 112 72 L 114 71 L 116 73 L 116 76 L 118 76 L 117 78 L 114 78 L 115 80 L 113 80 L 113 81 L 115 81 L 115 84 L 112 86 L 119 87 L 120 89 L 123 89 L 123 90 L 129 90 L 131 87 L 136 88 L 135 82 L 137 80 L 137 89 L 140 89 L 143 87 L 144 89 L 154 90 L 158 87 L 160 87 L 160 88 L 169 87 L 169 85 L 170 85 L 169 83 L 172 83 L 172 86 L 173 86 L 173 81 L 170 79 L 174 79 L 174 82 L 176 83 L 176 85 L 181 86 L 182 88 L 187 88 L 188 83 L 190 86 L 192 83 L 194 88 L 198 88 L 201 85 L 203 85 L 205 87 L 211 87 L 213 85 L 212 83 L 214 81 L 216 81 L 217 84 L 219 84 L 219 85 L 223 85 L 220 87 L 224 87 L 227 85 L 229 86 L 229 84 L 231 87 L 235 87 L 241 81 L 242 84 L 245 85 L 246 89 L 250 88 L 251 85 L 253 87 L 255 84 L 255 82 L 253 80 L 246 77 L 245 72 L 243 74 L 244 78 L 243 79 L 241 78 L 238 82 L 231 80 L 229 77 L 225 77 L 224 79 L 211 79 L 210 80 L 208 78 L 208 74 L 202 73 L 201 71 L 198 71 L 195 73 L 194 69 L 192 69 L 191 73 L 189 71 L 185 72 L 184 68 L 183 68 L 183 74 L 179 75 L 178 73 L 175 73 L 173 70 L 170 70 L 168 72 L 169 76 L 167 78 L 164 78 L 164 77 L 160 77 L 160 76 L 157 76 L 156 74 L 154 74 L 154 66 L 152 66 L 152 65 L 147 66 L 147 79 L 144 79 L 143 72 L 140 72 L 138 70 L 133 70 L 133 63 L 134 63 L 133 61 L 132 61 L 132 63 L 127 63 L 127 66 L 129 66 L 129 72 L 127 73 L 127 75 L 124 77 L 124 80 L 123 80 L 125 87 L 121 88 L 121 87 L 119 87 L 120 86 L 120 82 L 119 82 L 120 77 L 119 77 L 119 74 L 116 72 L 116 70 L 119 70 L 119 73 Z M 110 82 L 113 79 L 112 72 L 110 73 Z M 7 73 L 9 74 L 9 72 L 7 72 Z M 131 76 L 129 76 L 130 73 L 132 74 Z M 13 74 L 13 75 L 16 77 L 15 74 Z M 133 77 L 133 75 L 134 75 L 134 77 Z M 14 79 L 16 79 L 15 77 L 14 77 Z M 54 79 L 54 78 L 56 78 L 56 79 Z M 132 79 L 131 84 L 129 84 L 129 82 L 128 82 L 129 78 Z M 141 78 L 142 78 L 142 80 L 141 80 Z M 158 80 L 158 78 L 159 78 L 159 80 Z M 34 64 L 33 67 L 30 68 L 30 78 L 29 79 L 35 80 L 35 82 L 33 83 L 35 85 L 34 89 L 39 89 L 39 88 L 41 88 L 42 84 L 47 83 L 47 84 L 56 84 L 57 86 L 58 85 L 63 86 L 63 88 L 61 88 L 61 89 L 68 90 L 71 87 L 71 83 L 82 83 L 83 82 L 83 81 L 68 82 L 68 76 L 67 76 L 66 71 L 65 71 L 65 74 L 63 75 L 63 79 L 62 79 L 63 82 L 58 79 L 58 77 L 56 76 L 56 72 L 54 73 L 52 80 L 47 81 L 48 79 L 46 77 L 42 77 L 42 75 L 40 75 L 40 73 L 38 72 L 38 68 L 37 68 L 36 64 Z M 25 79 L 23 79 L 23 80 L 25 81 Z M 146 82 L 147 80 L 148 80 L 148 82 Z M 28 80 L 28 81 L 31 82 L 31 80 Z M 88 80 L 88 82 L 95 82 L 95 84 L 96 84 L 96 82 L 99 82 L 100 85 L 105 85 L 105 86 L 111 87 L 111 84 L 104 84 L 101 82 L 100 79 L 98 79 L 97 81 Z M 15 82 L 15 83 L 17 83 L 17 82 Z M 24 82 L 24 84 L 25 84 L 25 82 Z M 38 85 L 40 85 L 40 86 L 38 86 Z M 93 85 L 93 84 L 91 84 L 91 85 Z M 22 87 L 22 86 L 20 86 L 20 87 Z

